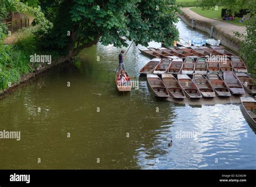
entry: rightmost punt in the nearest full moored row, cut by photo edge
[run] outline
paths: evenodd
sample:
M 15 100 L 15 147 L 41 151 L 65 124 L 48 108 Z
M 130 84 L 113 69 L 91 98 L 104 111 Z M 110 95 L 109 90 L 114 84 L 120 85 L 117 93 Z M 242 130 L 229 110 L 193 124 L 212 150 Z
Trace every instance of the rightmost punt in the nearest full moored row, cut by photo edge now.
M 256 94 L 255 82 L 250 76 L 245 73 L 235 73 L 235 75 L 238 77 L 239 81 L 242 83 L 247 93 L 251 95 Z

